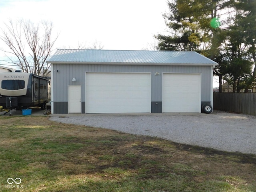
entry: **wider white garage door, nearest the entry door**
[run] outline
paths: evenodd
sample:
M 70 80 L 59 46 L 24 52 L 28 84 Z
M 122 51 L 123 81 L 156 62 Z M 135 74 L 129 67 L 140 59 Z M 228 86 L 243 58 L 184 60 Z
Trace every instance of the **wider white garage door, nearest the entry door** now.
M 150 113 L 150 73 L 86 72 L 86 113 Z

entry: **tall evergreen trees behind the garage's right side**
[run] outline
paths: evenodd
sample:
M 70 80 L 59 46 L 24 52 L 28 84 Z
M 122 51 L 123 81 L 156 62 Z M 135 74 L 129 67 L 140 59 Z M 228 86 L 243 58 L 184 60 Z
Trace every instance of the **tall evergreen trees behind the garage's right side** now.
M 234 90 L 255 81 L 256 0 L 174 0 L 164 14 L 168 35 L 156 35 L 159 50 L 196 51 L 219 63 L 214 74 L 232 79 Z

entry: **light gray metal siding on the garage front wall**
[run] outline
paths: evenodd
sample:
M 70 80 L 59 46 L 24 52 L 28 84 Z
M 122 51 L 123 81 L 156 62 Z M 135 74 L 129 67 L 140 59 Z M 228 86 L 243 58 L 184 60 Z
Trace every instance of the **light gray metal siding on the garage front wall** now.
M 58 72 L 57 72 L 58 70 Z M 52 64 L 54 102 L 68 101 L 68 85 L 82 85 L 82 102 L 85 102 L 85 72 L 151 72 L 152 102 L 162 101 L 162 73 L 201 73 L 202 101 L 210 101 L 211 66 L 145 66 L 145 65 L 92 65 Z M 154 75 L 158 72 L 160 75 Z M 72 78 L 76 77 L 76 82 Z

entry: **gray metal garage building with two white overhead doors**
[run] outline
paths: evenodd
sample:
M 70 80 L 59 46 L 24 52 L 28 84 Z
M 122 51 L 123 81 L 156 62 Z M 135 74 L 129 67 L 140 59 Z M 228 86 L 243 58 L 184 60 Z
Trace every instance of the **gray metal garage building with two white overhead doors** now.
M 201 112 L 218 63 L 183 51 L 58 49 L 52 113 Z

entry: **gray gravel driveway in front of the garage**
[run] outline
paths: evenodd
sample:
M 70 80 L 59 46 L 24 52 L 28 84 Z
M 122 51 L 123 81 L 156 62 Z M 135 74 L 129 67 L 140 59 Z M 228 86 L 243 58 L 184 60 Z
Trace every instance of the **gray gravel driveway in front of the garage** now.
M 256 116 L 244 114 L 54 114 L 50 120 L 256 154 Z

